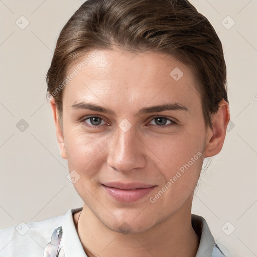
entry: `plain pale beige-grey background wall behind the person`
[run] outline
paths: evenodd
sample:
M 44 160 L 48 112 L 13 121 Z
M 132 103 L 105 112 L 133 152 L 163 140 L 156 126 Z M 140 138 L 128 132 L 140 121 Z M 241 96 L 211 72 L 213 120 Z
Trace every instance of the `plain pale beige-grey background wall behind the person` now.
M 82 3 L 0 0 L 0 229 L 83 205 L 67 179 L 45 82 L 58 35 Z M 201 176 L 192 213 L 207 220 L 217 243 L 257 256 L 257 1 L 191 3 L 223 44 L 231 111 L 223 149 Z

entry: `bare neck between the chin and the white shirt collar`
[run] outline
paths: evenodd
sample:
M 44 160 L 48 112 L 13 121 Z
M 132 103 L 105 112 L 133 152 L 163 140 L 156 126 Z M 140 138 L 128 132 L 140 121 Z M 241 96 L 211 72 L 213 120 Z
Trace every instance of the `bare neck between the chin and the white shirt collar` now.
M 88 257 L 194 257 L 199 240 L 191 224 L 191 206 L 186 215 L 178 212 L 147 231 L 123 234 L 103 225 L 84 205 L 77 213 L 77 230 Z

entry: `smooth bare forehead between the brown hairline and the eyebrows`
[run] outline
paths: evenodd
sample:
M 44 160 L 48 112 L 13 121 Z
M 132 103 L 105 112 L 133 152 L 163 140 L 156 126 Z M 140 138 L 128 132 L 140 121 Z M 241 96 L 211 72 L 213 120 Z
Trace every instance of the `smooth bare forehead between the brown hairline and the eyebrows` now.
M 148 102 L 200 104 L 195 77 L 174 57 L 147 51 L 138 54 L 118 50 L 86 53 L 70 67 L 76 73 L 65 87 L 63 101 L 98 101 L 146 105 Z

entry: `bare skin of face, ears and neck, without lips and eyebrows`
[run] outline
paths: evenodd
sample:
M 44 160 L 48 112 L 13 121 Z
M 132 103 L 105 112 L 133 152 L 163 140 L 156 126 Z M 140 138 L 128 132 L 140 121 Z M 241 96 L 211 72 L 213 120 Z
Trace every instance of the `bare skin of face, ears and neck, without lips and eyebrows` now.
M 184 73 L 178 81 L 170 76 L 176 67 Z M 77 213 L 74 221 L 86 254 L 195 256 L 199 242 L 191 225 L 194 188 L 204 158 L 222 149 L 230 118 L 228 103 L 220 101 L 212 117 L 213 129 L 205 127 L 190 68 L 151 51 L 133 55 L 118 49 L 100 50 L 63 90 L 62 127 L 54 99 L 50 103 L 61 156 L 67 159 L 69 171 L 80 175 L 74 187 L 84 206 L 79 220 Z M 115 114 L 71 107 L 82 101 Z M 188 111 L 135 115 L 143 107 L 174 102 Z M 103 118 L 98 120 L 100 125 L 87 127 L 93 126 L 88 115 Z M 163 116 L 168 119 L 160 125 L 155 118 Z M 123 119 L 132 125 L 126 132 L 118 126 Z M 151 203 L 149 198 L 197 153 L 202 156 Z M 121 203 L 101 186 L 106 181 L 143 182 L 156 188 L 136 202 Z M 130 227 L 126 234 L 119 229 L 124 222 Z

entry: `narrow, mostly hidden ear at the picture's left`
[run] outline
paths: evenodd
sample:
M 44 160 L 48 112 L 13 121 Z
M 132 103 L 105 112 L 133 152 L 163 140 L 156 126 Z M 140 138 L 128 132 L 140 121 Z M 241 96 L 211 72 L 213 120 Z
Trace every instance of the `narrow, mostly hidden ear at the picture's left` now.
M 52 98 L 50 100 L 50 104 L 51 104 L 52 113 L 53 113 L 53 117 L 54 117 L 56 136 L 57 136 L 57 141 L 58 141 L 58 145 L 60 148 L 60 153 L 61 153 L 61 156 L 63 159 L 67 159 L 65 144 L 64 144 L 63 129 L 61 128 L 61 125 L 59 123 L 58 111 L 57 111 L 57 106 L 56 106 L 54 98 Z

